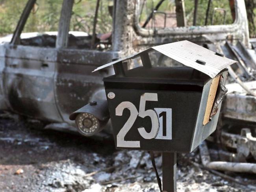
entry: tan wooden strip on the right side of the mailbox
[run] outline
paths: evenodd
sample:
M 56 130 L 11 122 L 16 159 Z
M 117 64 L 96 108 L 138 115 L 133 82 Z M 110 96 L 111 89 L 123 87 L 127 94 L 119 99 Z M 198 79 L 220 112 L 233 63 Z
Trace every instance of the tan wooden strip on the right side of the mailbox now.
M 213 78 L 212 81 L 211 81 L 211 87 L 210 87 L 208 100 L 207 100 L 207 104 L 206 104 L 206 110 L 205 110 L 205 114 L 204 114 L 203 125 L 206 125 L 209 122 L 211 109 L 212 109 L 213 102 L 214 102 L 216 92 L 217 92 L 217 89 L 218 89 L 220 77 L 221 76 L 217 76 L 217 77 Z

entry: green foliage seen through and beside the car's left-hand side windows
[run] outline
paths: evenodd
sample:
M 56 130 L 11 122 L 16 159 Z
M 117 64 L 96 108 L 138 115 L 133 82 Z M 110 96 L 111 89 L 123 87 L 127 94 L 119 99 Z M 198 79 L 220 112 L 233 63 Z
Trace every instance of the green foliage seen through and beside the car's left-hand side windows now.
M 13 33 L 27 0 L 2 0 L 0 3 L 0 36 Z M 37 0 L 22 32 L 58 31 L 63 0 Z M 101 0 L 96 33 L 111 32 L 109 1 Z M 75 0 L 70 30 L 92 33 L 96 0 Z

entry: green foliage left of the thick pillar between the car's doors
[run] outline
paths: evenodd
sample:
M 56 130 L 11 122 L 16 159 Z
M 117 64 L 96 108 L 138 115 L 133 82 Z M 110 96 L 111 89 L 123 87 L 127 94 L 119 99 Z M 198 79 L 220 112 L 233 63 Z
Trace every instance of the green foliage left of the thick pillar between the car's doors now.
M 0 4 L 0 35 L 13 33 L 27 0 L 4 0 Z M 56 31 L 62 0 L 37 0 L 23 32 Z

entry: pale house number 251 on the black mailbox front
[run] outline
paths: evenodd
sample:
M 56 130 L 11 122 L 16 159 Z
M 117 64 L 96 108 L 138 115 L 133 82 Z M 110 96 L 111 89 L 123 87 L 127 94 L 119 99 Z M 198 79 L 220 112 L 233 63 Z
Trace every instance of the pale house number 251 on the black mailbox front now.
M 137 116 L 142 118 L 149 116 L 151 119 L 151 131 L 148 133 L 144 127 L 139 127 L 138 131 L 141 137 L 145 139 L 172 139 L 172 109 L 170 108 L 154 108 L 145 110 L 146 101 L 158 101 L 157 93 L 144 93 L 141 95 L 139 103 L 139 112 L 135 105 L 131 102 L 121 102 L 115 109 L 115 115 L 122 116 L 124 109 L 130 110 L 130 117 L 117 134 L 117 147 L 139 148 L 140 141 L 124 140 L 125 135 L 133 126 Z

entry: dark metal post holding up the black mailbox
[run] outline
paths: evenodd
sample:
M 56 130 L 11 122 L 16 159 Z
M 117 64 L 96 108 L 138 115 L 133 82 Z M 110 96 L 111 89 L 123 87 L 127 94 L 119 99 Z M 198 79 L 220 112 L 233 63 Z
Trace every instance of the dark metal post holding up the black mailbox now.
M 163 192 L 176 192 L 177 153 L 162 153 Z

